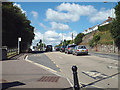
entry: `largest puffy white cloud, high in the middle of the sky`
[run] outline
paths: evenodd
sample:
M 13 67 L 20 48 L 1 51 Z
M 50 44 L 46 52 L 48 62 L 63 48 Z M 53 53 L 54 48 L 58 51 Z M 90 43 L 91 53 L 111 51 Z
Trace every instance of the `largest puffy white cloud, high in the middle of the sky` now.
M 84 6 L 74 3 L 62 3 L 56 9 L 57 11 L 50 8 L 47 10 L 47 20 L 57 22 L 76 22 L 80 19 L 81 15 L 90 15 L 91 13 L 96 11 L 96 9 L 91 5 Z M 66 13 L 63 11 L 66 11 Z

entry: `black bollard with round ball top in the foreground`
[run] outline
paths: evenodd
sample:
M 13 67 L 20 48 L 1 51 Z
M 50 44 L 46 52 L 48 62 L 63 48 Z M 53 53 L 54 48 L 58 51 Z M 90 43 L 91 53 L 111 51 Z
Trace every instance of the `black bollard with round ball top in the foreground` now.
M 75 90 L 80 90 L 80 86 L 78 83 L 78 77 L 77 77 L 77 67 L 72 66 L 72 71 L 73 71 L 73 78 L 74 78 L 74 89 Z

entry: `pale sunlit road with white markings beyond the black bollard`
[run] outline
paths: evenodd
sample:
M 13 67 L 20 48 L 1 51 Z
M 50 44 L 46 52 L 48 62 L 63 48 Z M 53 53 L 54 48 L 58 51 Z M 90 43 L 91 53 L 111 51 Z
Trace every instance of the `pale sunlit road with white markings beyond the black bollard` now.
M 47 52 L 29 55 L 28 59 L 57 71 L 69 78 L 71 83 L 73 83 L 71 68 L 76 65 L 79 83 L 83 87 L 118 88 L 118 61 L 108 57 Z

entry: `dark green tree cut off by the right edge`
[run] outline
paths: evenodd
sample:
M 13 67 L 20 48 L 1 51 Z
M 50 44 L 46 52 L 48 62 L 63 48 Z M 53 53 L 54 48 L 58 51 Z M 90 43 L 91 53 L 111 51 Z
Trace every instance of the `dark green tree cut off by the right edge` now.
M 118 5 L 115 7 L 115 14 L 116 18 L 112 22 L 112 28 L 110 32 L 120 52 L 120 2 L 118 2 Z

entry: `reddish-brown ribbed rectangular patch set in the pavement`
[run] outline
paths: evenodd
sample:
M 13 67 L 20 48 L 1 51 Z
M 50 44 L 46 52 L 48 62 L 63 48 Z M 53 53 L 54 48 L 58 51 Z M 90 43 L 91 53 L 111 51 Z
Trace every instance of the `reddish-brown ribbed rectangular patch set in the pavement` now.
M 43 76 L 38 81 L 39 82 L 58 82 L 60 77 L 56 76 Z

